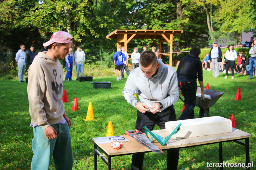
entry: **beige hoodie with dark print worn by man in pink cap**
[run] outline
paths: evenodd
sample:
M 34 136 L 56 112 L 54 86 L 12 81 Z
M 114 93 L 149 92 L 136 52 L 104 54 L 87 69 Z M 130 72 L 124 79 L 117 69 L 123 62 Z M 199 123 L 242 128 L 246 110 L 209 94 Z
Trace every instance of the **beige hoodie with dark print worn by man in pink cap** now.
M 63 120 L 62 67 L 44 52 L 39 52 L 28 69 L 28 101 L 31 122 L 42 129 Z

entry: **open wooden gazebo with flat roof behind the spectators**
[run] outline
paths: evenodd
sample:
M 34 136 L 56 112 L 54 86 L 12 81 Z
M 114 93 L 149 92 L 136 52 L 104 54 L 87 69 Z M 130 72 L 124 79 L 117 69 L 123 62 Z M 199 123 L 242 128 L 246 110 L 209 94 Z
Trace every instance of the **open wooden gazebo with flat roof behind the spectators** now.
M 162 43 L 168 42 L 170 44 L 170 54 L 160 54 L 170 56 L 169 65 L 172 66 L 172 40 L 173 35 L 180 35 L 182 30 L 115 30 L 106 36 L 107 39 L 117 39 L 117 48 L 124 44 L 125 51 L 127 51 L 127 44 L 132 39 L 151 39 L 162 52 Z M 159 39 L 159 42 L 154 39 Z

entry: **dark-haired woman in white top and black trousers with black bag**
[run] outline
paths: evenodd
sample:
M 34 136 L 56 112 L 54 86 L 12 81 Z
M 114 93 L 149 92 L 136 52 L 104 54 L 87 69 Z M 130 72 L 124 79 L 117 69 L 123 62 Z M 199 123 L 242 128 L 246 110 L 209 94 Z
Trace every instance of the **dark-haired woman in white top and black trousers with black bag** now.
M 234 79 L 234 66 L 235 66 L 235 59 L 237 58 L 237 53 L 236 53 L 236 50 L 234 50 L 233 45 L 228 46 L 228 51 L 226 51 L 226 58 L 228 59 L 228 62 L 226 63 L 225 79 L 228 78 L 229 66 L 231 67 L 231 74 L 232 74 L 231 78 Z

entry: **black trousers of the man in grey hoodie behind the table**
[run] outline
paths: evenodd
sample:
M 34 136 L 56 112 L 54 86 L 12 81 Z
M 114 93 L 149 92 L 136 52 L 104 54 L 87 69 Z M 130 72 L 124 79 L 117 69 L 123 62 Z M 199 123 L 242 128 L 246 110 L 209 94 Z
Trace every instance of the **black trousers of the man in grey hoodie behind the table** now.
M 142 113 L 137 110 L 137 120 L 135 128 L 140 130 L 142 133 L 145 133 L 144 126 L 146 126 L 149 130 L 153 130 L 155 124 L 159 126 L 160 129 L 165 129 L 165 122 L 175 121 L 176 114 L 173 105 L 163 110 L 163 113 L 151 113 L 145 112 Z M 143 159 L 144 153 L 133 154 L 132 155 L 132 170 L 141 170 L 143 168 Z M 179 149 L 173 149 L 167 151 L 166 158 L 166 169 L 167 170 L 177 170 L 179 161 Z

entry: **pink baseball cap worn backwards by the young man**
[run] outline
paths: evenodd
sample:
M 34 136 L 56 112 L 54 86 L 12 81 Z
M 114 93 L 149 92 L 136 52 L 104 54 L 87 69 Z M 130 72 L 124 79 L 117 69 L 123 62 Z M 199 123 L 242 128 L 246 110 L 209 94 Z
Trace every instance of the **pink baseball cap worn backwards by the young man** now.
M 58 31 L 53 33 L 50 40 L 43 44 L 44 47 L 50 46 L 52 43 L 71 43 L 72 42 L 72 35 L 65 32 L 65 31 Z

